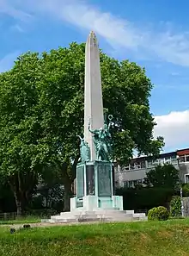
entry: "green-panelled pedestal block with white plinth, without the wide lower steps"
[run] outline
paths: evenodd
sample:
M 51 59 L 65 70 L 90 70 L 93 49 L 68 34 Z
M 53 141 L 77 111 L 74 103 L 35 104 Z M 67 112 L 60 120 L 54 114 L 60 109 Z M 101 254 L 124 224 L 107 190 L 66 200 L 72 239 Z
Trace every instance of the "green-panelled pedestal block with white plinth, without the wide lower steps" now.
M 119 209 L 123 198 L 113 195 L 112 163 L 93 161 L 76 167 L 76 197 L 70 199 L 73 210 Z

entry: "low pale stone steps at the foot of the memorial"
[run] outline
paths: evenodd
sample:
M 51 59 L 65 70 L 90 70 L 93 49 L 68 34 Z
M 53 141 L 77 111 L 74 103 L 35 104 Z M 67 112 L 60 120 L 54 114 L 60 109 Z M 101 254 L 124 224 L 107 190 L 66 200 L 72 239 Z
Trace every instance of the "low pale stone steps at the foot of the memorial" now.
M 41 222 L 71 223 L 71 222 L 133 222 L 146 221 L 148 217 L 144 213 L 134 213 L 134 210 L 96 209 L 93 211 L 76 210 L 62 212 L 54 215 L 49 220 Z

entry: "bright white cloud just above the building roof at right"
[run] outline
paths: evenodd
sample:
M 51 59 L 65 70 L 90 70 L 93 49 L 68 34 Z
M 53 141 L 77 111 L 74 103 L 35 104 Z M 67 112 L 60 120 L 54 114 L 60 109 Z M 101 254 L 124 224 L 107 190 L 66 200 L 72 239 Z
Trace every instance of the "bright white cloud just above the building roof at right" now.
M 182 145 L 189 145 L 189 110 L 155 116 L 155 122 L 155 137 L 162 135 L 166 148 L 175 150 Z

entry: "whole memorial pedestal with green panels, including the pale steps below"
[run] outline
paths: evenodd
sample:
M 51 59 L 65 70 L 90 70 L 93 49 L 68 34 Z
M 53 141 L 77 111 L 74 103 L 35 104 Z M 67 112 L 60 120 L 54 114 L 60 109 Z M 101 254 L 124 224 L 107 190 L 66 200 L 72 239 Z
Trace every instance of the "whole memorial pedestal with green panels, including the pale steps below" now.
M 123 210 L 123 197 L 113 195 L 112 163 L 93 161 L 76 167 L 76 197 L 70 198 L 70 212 L 52 216 L 46 222 L 131 222 L 147 220 L 145 214 Z

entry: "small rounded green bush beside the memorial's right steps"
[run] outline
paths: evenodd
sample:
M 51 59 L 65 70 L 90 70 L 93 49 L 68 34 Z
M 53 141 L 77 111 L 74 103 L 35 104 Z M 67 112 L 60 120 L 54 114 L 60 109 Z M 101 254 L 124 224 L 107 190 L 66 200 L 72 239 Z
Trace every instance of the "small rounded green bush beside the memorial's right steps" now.
M 149 209 L 149 213 L 148 213 L 149 221 L 167 221 L 168 217 L 169 217 L 168 209 L 163 206 Z

